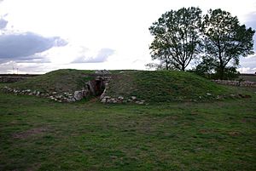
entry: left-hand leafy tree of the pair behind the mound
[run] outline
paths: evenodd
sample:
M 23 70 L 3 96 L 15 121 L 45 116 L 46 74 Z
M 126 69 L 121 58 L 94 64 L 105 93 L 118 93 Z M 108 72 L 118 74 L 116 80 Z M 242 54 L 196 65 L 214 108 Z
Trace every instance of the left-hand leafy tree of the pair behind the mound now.
M 149 49 L 153 60 L 184 71 L 191 60 L 201 53 L 201 9 L 191 7 L 171 10 L 149 27 L 154 36 Z

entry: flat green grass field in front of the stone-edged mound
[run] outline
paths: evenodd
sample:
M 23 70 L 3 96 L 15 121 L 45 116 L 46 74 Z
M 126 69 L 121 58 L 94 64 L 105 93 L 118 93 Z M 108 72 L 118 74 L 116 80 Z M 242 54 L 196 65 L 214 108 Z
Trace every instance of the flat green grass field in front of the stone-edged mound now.
M 252 98 L 102 105 L 0 93 L 0 170 L 256 170 L 256 89 L 239 91 Z

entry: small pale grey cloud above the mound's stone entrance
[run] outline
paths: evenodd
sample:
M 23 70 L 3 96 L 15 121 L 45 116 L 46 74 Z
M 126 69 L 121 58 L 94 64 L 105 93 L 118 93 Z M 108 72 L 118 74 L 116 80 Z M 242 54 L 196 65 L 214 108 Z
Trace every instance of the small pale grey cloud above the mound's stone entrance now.
M 90 56 L 86 57 L 87 49 L 83 51 L 82 56 L 77 58 L 76 60 L 73 60 L 72 63 L 101 63 L 108 60 L 108 57 L 114 54 L 114 50 L 111 48 L 102 48 L 99 50 L 96 54 L 96 56 Z

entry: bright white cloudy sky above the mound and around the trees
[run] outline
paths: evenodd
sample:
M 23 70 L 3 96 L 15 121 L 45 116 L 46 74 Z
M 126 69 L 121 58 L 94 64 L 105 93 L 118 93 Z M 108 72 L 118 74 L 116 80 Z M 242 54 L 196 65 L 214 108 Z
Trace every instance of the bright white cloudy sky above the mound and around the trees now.
M 0 73 L 145 70 L 148 27 L 166 11 L 191 6 L 204 14 L 227 10 L 256 29 L 255 0 L 0 0 Z M 240 71 L 256 71 L 256 54 L 241 59 Z

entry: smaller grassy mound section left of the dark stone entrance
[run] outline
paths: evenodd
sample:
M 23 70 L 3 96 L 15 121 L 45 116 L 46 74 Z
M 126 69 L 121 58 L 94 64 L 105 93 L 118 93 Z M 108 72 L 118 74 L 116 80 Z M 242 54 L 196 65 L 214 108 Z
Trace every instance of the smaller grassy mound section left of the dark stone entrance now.
M 10 88 L 40 90 L 41 92 L 69 92 L 83 88 L 84 83 L 91 79 L 93 71 L 63 69 L 50 71 L 42 76 L 28 78 L 26 80 L 10 83 Z

